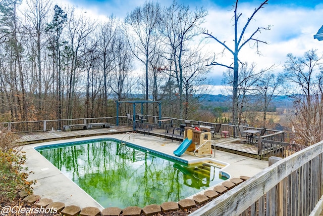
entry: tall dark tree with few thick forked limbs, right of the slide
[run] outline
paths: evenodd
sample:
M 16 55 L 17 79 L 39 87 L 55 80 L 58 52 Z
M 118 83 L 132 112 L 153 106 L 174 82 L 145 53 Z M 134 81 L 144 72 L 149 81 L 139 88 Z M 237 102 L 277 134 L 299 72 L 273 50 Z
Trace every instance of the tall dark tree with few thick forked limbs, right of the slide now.
M 252 20 L 254 20 L 255 15 L 257 12 L 263 8 L 265 5 L 267 5 L 268 0 L 263 1 L 259 7 L 257 7 L 254 12 L 251 14 L 251 16 L 247 19 L 246 23 L 244 24 L 242 30 L 239 32 L 238 26 L 239 26 L 239 19 L 241 17 L 241 13 L 238 12 L 238 2 L 239 0 L 236 0 L 234 8 L 234 16 L 233 16 L 233 26 L 234 26 L 234 45 L 233 48 L 230 48 L 225 44 L 226 41 L 221 41 L 216 36 L 212 35 L 212 33 L 208 33 L 208 31 L 204 31 L 203 33 L 206 34 L 206 37 L 213 38 L 216 40 L 220 45 L 224 47 L 224 51 L 229 51 L 233 55 L 233 63 L 232 64 L 224 64 L 217 61 L 216 56 L 214 56 L 212 59 L 210 59 L 210 62 L 208 65 L 219 65 L 226 67 L 228 69 L 233 70 L 233 97 L 232 97 L 232 116 L 233 116 L 233 124 L 238 124 L 238 76 L 239 76 L 239 52 L 246 44 L 252 44 L 252 46 L 255 46 L 257 48 L 257 53 L 259 53 L 259 44 L 266 44 L 267 42 L 259 40 L 256 38 L 256 35 L 258 33 L 261 33 L 262 30 L 270 30 L 271 26 L 267 27 L 258 27 L 254 31 L 252 31 L 249 35 L 246 35 L 247 29 L 249 27 L 249 24 Z M 224 52 L 223 51 L 223 52 Z M 236 133 L 234 131 L 233 136 L 236 136 Z

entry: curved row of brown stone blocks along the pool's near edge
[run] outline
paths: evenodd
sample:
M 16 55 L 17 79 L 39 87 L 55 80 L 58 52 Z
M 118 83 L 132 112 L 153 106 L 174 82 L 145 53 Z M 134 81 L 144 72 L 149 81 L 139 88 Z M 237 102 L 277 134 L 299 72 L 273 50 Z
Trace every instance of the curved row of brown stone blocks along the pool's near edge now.
M 80 208 L 76 205 L 69 205 L 65 206 L 63 202 L 53 202 L 51 199 L 47 198 L 40 198 L 39 195 L 28 195 L 25 191 L 18 192 L 20 198 L 23 199 L 24 202 L 29 204 L 33 204 L 37 207 L 43 208 L 52 208 L 57 209 L 57 212 L 61 212 L 66 216 L 130 216 L 130 215 L 138 215 L 140 216 L 141 213 L 144 215 L 154 215 L 161 212 L 168 212 L 168 211 L 176 211 L 179 209 L 188 210 L 196 205 L 204 204 L 212 199 L 217 198 L 218 196 L 224 194 L 225 192 L 229 191 L 230 189 L 236 187 L 237 185 L 241 184 L 242 182 L 250 179 L 246 176 L 240 176 L 240 178 L 232 178 L 228 181 L 223 182 L 221 185 L 215 186 L 213 190 L 207 190 L 204 194 L 197 194 L 193 196 L 192 199 L 182 199 L 178 202 L 164 202 L 161 205 L 151 204 L 147 205 L 143 208 L 138 206 L 130 206 L 124 209 L 118 207 L 107 207 L 100 211 L 97 207 L 84 207 Z

